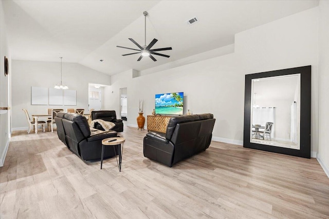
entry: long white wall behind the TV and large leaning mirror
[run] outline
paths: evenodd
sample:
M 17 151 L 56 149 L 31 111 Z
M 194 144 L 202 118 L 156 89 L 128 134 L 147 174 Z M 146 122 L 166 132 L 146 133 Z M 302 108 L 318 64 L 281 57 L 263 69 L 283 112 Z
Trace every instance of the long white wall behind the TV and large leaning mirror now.
M 145 116 L 154 109 L 155 94 L 183 91 L 186 109 L 214 114 L 214 140 L 242 145 L 245 74 L 312 65 L 311 150 L 317 151 L 317 38 L 318 8 L 313 8 L 236 34 L 234 53 L 135 78 L 132 71 L 114 75 L 105 90 L 106 107 L 119 110 L 119 88 L 127 87 L 127 122 L 137 126 L 139 99 Z

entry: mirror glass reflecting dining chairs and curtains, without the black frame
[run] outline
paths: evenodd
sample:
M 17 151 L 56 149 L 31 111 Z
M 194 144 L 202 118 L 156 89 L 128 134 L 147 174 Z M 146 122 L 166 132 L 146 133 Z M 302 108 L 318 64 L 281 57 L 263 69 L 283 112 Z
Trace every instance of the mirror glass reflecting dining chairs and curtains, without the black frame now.
M 300 74 L 251 80 L 251 143 L 300 150 L 300 84 Z

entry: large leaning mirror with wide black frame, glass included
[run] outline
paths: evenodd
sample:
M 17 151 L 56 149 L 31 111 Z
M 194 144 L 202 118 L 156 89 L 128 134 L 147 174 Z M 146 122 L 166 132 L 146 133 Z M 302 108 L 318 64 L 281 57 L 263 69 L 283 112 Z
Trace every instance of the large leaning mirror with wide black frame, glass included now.
M 310 72 L 246 75 L 244 147 L 310 158 Z

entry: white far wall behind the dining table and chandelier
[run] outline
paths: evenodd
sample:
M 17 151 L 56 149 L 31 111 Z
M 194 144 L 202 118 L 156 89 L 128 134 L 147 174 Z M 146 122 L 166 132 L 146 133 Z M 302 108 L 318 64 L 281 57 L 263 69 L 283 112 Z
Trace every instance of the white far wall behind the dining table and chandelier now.
M 63 58 L 64 59 L 64 58 Z M 12 129 L 26 129 L 22 111 L 44 114 L 47 108 L 83 108 L 88 110 L 88 83 L 109 85 L 109 75 L 75 63 L 62 64 L 62 81 L 70 90 L 77 90 L 76 106 L 31 105 L 31 86 L 53 88 L 61 82 L 60 62 L 12 61 Z

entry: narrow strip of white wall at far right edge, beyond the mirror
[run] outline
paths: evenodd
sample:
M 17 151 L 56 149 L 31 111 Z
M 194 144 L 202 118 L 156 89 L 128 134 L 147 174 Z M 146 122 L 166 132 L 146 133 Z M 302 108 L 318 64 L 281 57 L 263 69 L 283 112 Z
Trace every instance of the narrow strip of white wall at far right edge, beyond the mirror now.
M 329 1 L 320 1 L 319 11 L 319 149 L 317 158 L 329 176 Z

